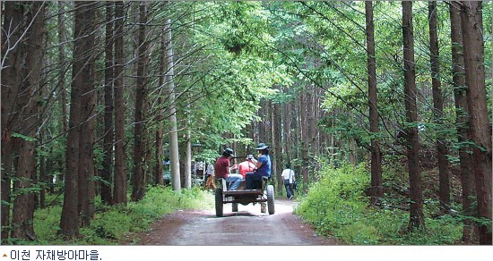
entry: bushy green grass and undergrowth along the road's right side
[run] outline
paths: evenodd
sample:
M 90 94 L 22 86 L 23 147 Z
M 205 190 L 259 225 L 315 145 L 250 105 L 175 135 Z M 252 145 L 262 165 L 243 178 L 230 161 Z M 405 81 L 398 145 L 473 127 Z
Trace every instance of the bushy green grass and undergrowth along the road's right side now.
M 396 207 L 409 205 L 407 199 L 390 191 L 383 206 L 369 207 L 365 195 L 369 181 L 364 164 L 344 164 L 337 169 L 325 165 L 319 181 L 299 199 L 295 213 L 312 223 L 317 232 L 350 245 L 460 244 L 463 224 L 451 215 L 437 216 L 437 200 L 428 199 L 424 206 L 426 229 L 408 232 L 409 212 Z

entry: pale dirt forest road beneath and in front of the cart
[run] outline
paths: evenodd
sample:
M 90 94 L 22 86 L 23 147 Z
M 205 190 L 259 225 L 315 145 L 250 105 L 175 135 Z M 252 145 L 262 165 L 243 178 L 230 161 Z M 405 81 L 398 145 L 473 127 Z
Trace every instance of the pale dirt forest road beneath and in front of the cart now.
M 165 215 L 139 235 L 138 245 L 159 246 L 320 246 L 337 245 L 333 238 L 317 236 L 297 215 L 292 214 L 296 202 L 275 200 L 275 214 L 260 212 L 260 205 L 231 204 L 224 206 L 224 216 L 214 209 L 177 211 Z

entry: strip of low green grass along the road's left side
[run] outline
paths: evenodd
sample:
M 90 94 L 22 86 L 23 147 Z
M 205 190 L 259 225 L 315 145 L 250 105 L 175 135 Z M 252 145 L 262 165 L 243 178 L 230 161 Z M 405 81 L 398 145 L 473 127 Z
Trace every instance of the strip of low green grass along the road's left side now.
M 51 196 L 54 198 L 54 196 Z M 52 198 L 48 198 L 48 201 Z M 57 235 L 63 198 L 56 198 L 55 204 L 38 209 L 34 214 L 34 231 L 38 240 L 16 241 L 15 244 L 30 245 L 118 245 L 132 244 L 138 240 L 135 233 L 146 231 L 151 223 L 162 215 L 178 209 L 203 209 L 213 207 L 211 192 L 199 188 L 183 189 L 176 193 L 169 187 L 149 187 L 144 198 L 138 202 L 128 201 L 127 205 L 107 206 L 97 199 L 95 216 L 91 225 L 79 230 L 80 236 L 65 240 Z

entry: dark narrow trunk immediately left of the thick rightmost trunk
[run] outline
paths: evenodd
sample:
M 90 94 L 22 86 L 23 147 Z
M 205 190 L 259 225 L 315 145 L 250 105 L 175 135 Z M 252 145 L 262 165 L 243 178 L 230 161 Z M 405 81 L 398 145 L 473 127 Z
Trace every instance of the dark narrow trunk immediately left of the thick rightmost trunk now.
M 461 27 L 460 6 L 450 3 L 450 21 L 452 38 L 452 62 L 453 62 L 453 84 L 455 102 L 455 122 L 457 125 L 458 142 L 465 143 L 470 140 L 469 135 L 469 110 L 467 108 L 467 97 L 465 88 L 465 72 L 463 60 L 463 33 Z M 472 206 L 472 198 L 476 198 L 474 173 L 472 170 L 471 147 L 459 148 L 461 165 L 461 186 L 463 199 L 463 215 L 477 216 L 477 208 Z M 463 221 L 463 240 L 472 243 L 476 238 L 475 225 L 469 219 Z

